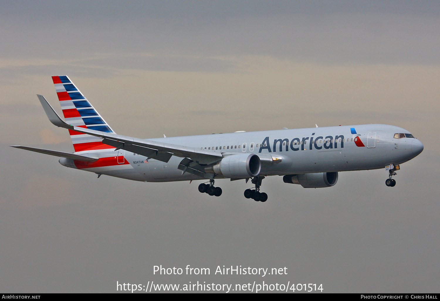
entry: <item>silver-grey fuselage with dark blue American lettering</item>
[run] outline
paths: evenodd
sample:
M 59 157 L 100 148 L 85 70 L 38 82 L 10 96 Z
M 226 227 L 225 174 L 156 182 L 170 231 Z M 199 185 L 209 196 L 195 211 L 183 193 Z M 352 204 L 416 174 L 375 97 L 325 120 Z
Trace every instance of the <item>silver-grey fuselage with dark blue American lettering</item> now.
M 352 134 L 355 129 L 356 134 Z M 409 133 L 400 127 L 364 124 L 339 127 L 314 127 L 292 130 L 236 132 L 199 136 L 149 139 L 175 145 L 222 153 L 254 153 L 262 158 L 260 176 L 307 174 L 346 170 L 385 168 L 411 160 L 423 150 L 416 138 L 394 138 L 396 133 Z M 358 143 L 356 139 L 360 139 Z M 355 141 L 353 141 L 356 139 Z M 362 146 L 359 146 L 361 144 Z M 220 149 L 221 148 L 221 149 Z M 106 174 L 136 181 L 166 182 L 204 179 L 177 167 L 183 158 L 172 156 L 165 163 L 120 149 L 77 152 L 106 158 L 107 163 L 77 164 L 60 160 L 65 166 L 96 174 Z M 275 156 L 278 160 L 266 160 Z M 267 162 L 267 163 L 265 163 Z M 216 175 L 215 178 L 223 178 Z

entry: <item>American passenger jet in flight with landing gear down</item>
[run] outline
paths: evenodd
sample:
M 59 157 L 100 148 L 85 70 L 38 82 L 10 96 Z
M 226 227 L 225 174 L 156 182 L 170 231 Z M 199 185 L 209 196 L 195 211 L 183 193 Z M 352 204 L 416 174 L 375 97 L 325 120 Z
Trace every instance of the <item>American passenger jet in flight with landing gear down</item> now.
M 338 172 L 385 168 L 393 187 L 400 164 L 418 156 L 423 144 L 407 130 L 385 124 L 312 127 L 275 131 L 140 139 L 116 134 L 66 75 L 52 76 L 63 121 L 37 94 L 48 119 L 69 130 L 74 152 L 11 145 L 61 157 L 61 165 L 143 182 L 205 180 L 199 192 L 220 196 L 216 179 L 249 179 L 247 199 L 265 202 L 265 177 L 304 188 L 331 187 Z

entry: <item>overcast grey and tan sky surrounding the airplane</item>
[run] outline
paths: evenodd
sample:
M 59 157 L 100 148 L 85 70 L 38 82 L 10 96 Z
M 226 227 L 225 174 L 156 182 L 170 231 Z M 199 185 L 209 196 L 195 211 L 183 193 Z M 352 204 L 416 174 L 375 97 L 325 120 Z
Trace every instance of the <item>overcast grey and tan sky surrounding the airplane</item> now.
M 0 291 L 264 281 L 438 292 L 437 1 L 0 4 Z M 97 179 L 9 147 L 73 152 L 36 97 L 60 112 L 50 76 L 63 74 L 118 134 L 385 123 L 425 149 L 401 165 L 394 188 L 385 169 L 341 172 L 323 189 L 273 176 L 265 203 L 244 198 L 245 181 L 217 180 L 214 198 L 198 192 L 201 181 Z M 160 265 L 183 274 L 158 275 Z M 210 275 L 185 275 L 187 265 Z M 287 274 L 215 274 L 223 265 Z

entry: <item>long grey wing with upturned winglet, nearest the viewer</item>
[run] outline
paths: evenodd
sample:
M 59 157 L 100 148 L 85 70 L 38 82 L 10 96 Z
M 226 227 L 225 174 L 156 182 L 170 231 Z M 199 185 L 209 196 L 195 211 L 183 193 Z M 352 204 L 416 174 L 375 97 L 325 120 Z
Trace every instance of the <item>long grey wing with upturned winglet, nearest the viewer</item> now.
M 178 156 L 182 158 L 196 159 L 199 163 L 209 164 L 220 161 L 223 157 L 220 152 L 212 150 L 196 149 L 183 145 L 133 138 L 115 133 L 95 131 L 84 127 L 76 127 L 64 122 L 43 95 L 37 94 L 37 96 L 51 123 L 57 127 L 64 127 L 69 130 L 103 138 L 104 144 L 114 146 L 116 149 L 125 149 L 129 152 L 135 152 L 147 156 L 149 159 L 152 158 L 163 162 L 168 162 L 171 156 Z

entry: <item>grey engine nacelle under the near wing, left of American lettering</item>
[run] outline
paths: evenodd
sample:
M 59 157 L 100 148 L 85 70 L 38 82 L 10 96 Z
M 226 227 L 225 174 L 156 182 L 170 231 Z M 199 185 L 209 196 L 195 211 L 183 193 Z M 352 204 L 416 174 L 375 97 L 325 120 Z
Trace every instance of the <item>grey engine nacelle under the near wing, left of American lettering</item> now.
M 211 170 L 206 172 L 221 174 L 225 178 L 253 178 L 260 174 L 261 161 L 255 154 L 237 154 L 225 156 Z

